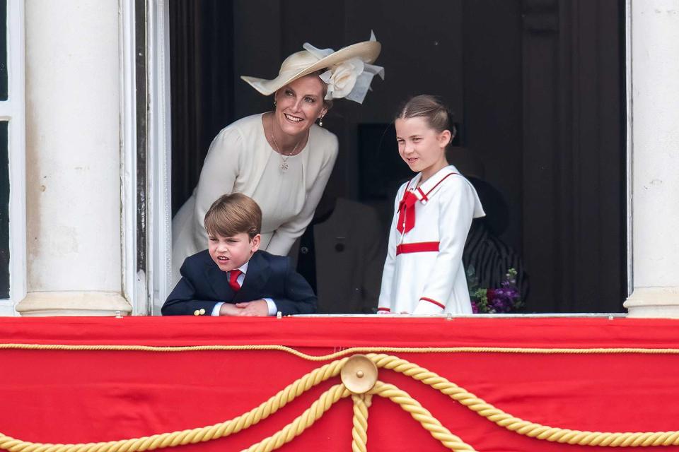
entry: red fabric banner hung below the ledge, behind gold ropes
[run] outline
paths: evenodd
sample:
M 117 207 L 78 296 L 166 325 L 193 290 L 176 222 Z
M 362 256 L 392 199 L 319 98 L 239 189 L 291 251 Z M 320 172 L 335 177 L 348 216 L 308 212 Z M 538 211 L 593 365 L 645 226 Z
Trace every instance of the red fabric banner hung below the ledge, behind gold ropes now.
M 347 347 L 473 347 L 385 353 L 434 371 L 523 420 L 594 432 L 679 430 L 679 321 L 673 320 L 4 318 L 0 344 L 285 345 L 315 356 Z M 580 352 L 546 350 L 556 347 Z M 255 408 L 331 360 L 311 361 L 279 350 L 0 348 L 0 432 L 24 441 L 84 443 L 204 427 Z M 593 448 L 510 432 L 388 369 L 379 370 L 379 379 L 410 393 L 477 451 Z M 339 382 L 337 377 L 320 383 L 243 432 L 180 449 L 247 448 L 279 431 Z M 347 451 L 351 432 L 348 398 L 281 450 Z M 651 449 L 679 451 L 677 446 Z M 443 446 L 398 405 L 375 397 L 368 416 L 368 451 L 397 450 Z

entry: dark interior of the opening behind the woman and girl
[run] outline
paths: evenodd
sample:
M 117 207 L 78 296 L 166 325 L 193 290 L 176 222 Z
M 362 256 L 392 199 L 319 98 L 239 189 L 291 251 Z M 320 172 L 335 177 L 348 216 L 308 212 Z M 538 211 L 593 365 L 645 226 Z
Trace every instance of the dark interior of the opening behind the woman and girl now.
M 272 107 L 240 75 L 273 78 L 303 42 L 339 49 L 374 30 L 386 78 L 364 105 L 335 102 L 324 120 L 340 138 L 328 190 L 387 225 L 409 177 L 393 112 L 409 95 L 440 95 L 459 125 L 460 169 L 506 202 L 500 237 L 530 275 L 526 312 L 622 311 L 624 23 L 620 0 L 344 0 L 332 11 L 313 0 L 172 0 L 173 213 L 216 133 Z

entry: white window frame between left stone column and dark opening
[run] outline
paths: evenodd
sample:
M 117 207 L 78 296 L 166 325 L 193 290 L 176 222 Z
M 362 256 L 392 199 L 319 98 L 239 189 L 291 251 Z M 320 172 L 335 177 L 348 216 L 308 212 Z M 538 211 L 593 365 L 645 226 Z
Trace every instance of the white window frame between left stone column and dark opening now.
M 137 268 L 137 78 L 135 1 L 120 0 L 122 286 L 132 315 L 160 315 L 171 284 L 170 15 L 166 0 L 146 0 L 146 268 Z M 139 20 L 139 18 L 137 18 Z

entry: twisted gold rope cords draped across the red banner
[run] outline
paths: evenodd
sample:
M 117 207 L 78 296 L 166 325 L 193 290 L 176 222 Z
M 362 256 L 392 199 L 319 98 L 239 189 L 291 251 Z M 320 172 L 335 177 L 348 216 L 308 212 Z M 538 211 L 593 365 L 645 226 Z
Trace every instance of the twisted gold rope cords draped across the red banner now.
M 1 349 L 23 349 L 23 350 L 146 350 L 158 352 L 178 352 L 178 351 L 202 351 L 202 350 L 279 350 L 290 352 L 298 357 L 318 361 L 327 359 L 329 356 L 341 356 L 349 353 L 361 351 L 392 350 L 390 347 L 353 347 L 340 352 L 335 352 L 324 357 L 306 355 L 290 347 L 280 345 L 222 345 L 222 346 L 197 346 L 197 347 L 146 347 L 140 345 L 37 345 L 37 344 L 0 344 Z M 180 349 L 180 350 L 178 350 Z M 499 347 L 448 347 L 448 348 L 400 348 L 401 352 L 511 352 L 511 353 L 663 353 L 676 354 L 677 349 L 644 349 L 644 348 L 625 348 L 625 349 L 521 349 L 521 348 L 499 348 Z M 555 351 L 558 350 L 558 351 Z M 579 430 L 561 429 L 536 424 L 530 421 L 521 420 L 506 413 L 484 400 L 477 398 L 474 394 L 464 388 L 455 385 L 451 381 L 428 371 L 417 364 L 401 359 L 400 357 L 384 354 L 368 354 L 367 357 L 376 364 L 378 368 L 390 369 L 401 374 L 410 376 L 412 379 L 420 381 L 431 388 L 441 391 L 453 400 L 460 402 L 470 410 L 476 412 L 485 419 L 494 422 L 500 427 L 504 427 L 511 432 L 529 436 L 545 441 L 554 441 L 562 444 L 576 444 L 579 446 L 678 446 L 679 432 L 583 432 Z M 340 373 L 342 367 L 349 358 L 344 357 L 323 365 L 309 372 L 300 379 L 294 381 L 289 386 L 279 391 L 275 396 L 269 398 L 257 408 L 250 410 L 232 420 L 180 432 L 156 434 L 144 436 L 137 439 L 125 439 L 120 441 L 109 441 L 88 444 L 41 444 L 29 441 L 13 439 L 10 436 L 0 434 L 0 449 L 10 452 L 138 452 L 151 451 L 156 448 L 174 447 L 184 444 L 197 444 L 199 442 L 210 441 L 211 439 L 223 438 L 231 434 L 240 432 L 260 420 L 264 420 L 269 415 L 274 414 L 287 403 L 294 400 L 297 396 L 308 391 L 311 387 L 326 381 Z M 473 451 L 474 449 L 465 444 L 457 436 L 443 427 L 431 413 L 422 408 L 417 400 L 411 398 L 407 393 L 401 391 L 393 385 L 377 381 L 375 386 L 366 394 L 353 394 L 344 386 L 338 384 L 325 391 L 318 400 L 294 422 L 288 424 L 276 434 L 267 439 L 254 444 L 247 449 L 248 452 L 272 451 L 281 447 L 296 436 L 300 435 L 305 429 L 318 420 L 330 407 L 341 398 L 352 395 L 354 400 L 354 427 L 352 429 L 352 450 L 366 451 L 367 441 L 367 419 L 368 407 L 371 395 L 376 394 L 389 398 L 394 403 L 400 405 L 403 410 L 410 412 L 410 415 L 422 424 L 431 436 L 441 441 L 441 444 L 453 451 Z

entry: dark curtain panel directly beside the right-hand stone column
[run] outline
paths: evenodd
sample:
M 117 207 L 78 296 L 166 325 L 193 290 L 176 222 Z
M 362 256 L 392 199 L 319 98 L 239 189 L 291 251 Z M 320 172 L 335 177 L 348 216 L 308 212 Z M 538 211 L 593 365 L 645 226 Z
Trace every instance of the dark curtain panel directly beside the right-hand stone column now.
M 627 297 L 624 11 L 523 0 L 529 311 L 622 311 Z

